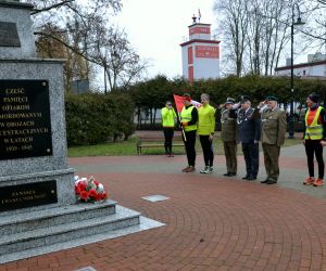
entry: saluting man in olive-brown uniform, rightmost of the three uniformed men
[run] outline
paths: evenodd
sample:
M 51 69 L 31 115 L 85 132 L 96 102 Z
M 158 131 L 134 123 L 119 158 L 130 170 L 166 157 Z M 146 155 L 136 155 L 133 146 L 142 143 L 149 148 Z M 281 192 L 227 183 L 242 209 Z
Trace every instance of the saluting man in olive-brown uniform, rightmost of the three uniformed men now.
M 278 108 L 277 98 L 268 96 L 259 105 L 262 116 L 261 141 L 267 178 L 261 183 L 274 184 L 279 176 L 278 157 L 287 130 L 286 113 Z

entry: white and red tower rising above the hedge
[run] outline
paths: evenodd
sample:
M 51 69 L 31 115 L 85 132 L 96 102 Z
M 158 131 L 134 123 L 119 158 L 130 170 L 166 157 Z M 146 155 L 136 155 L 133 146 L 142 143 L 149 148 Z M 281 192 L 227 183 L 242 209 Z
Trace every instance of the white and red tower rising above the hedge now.
M 189 40 L 181 43 L 183 75 L 190 82 L 193 79 L 220 77 L 220 42 L 211 38 L 211 25 L 200 23 L 193 15 L 189 28 Z

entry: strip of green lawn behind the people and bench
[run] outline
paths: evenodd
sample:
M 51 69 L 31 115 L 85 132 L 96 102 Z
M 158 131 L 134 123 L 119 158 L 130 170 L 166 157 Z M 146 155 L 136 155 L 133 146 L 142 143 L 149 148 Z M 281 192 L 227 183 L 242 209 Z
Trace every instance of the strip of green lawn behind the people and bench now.
M 115 143 L 103 143 L 89 146 L 74 146 L 68 149 L 68 157 L 83 156 L 118 156 L 118 155 L 137 155 L 136 150 L 137 138 Z M 300 144 L 301 139 L 286 139 L 284 146 Z M 200 153 L 201 146 L 199 140 L 196 142 L 196 150 Z M 262 149 L 260 149 L 262 150 Z M 177 146 L 173 149 L 175 154 L 185 154 L 184 147 Z M 224 154 L 223 145 L 220 138 L 214 140 L 214 153 Z M 163 147 L 151 147 L 142 150 L 142 154 L 164 154 Z M 238 154 L 241 155 L 241 146 L 238 146 Z

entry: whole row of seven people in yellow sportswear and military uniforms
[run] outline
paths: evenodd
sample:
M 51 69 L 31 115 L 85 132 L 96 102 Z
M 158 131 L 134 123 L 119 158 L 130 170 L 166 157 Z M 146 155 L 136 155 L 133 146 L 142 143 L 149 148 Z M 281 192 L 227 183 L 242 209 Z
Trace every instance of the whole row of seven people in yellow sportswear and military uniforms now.
M 201 173 L 213 172 L 213 138 L 215 132 L 216 111 L 210 105 L 210 96 L 201 95 L 201 106 L 197 108 L 191 103 L 189 94 L 183 95 L 184 107 L 179 115 L 183 127 L 183 136 L 186 147 L 188 166 L 184 172 L 196 170 L 196 137 L 199 136 L 203 151 L 204 168 Z M 251 99 L 242 96 L 240 102 L 228 98 L 222 106 L 221 112 L 221 139 L 224 145 L 227 172 L 225 177 L 237 175 L 237 146 L 241 144 L 246 162 L 246 175 L 243 180 L 255 180 L 259 172 L 259 146 L 262 143 L 264 154 L 264 165 L 266 179 L 261 183 L 277 183 L 279 177 L 279 153 L 280 146 L 285 142 L 287 129 L 286 112 L 278 107 L 276 96 L 267 96 L 256 107 L 252 107 Z M 305 114 L 305 128 L 303 144 L 308 157 L 309 178 L 303 184 L 323 185 L 324 160 L 323 146 L 326 145 L 326 114 L 325 109 L 318 105 L 318 96 L 312 93 L 306 99 L 308 112 Z M 167 117 L 170 120 L 167 121 Z M 167 102 L 162 108 L 163 131 L 165 136 L 165 152 L 167 156 L 172 154 L 172 139 L 174 132 L 175 118 L 177 117 Z M 318 163 L 318 178 L 314 178 L 314 155 Z

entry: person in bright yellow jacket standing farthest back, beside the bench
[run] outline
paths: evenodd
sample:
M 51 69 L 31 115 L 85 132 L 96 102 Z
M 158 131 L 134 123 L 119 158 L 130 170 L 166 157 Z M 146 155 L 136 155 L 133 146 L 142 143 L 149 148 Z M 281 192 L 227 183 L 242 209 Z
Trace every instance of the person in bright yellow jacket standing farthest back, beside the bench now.
M 172 140 L 174 136 L 174 126 L 175 119 L 177 117 L 174 108 L 172 107 L 172 102 L 167 101 L 165 103 L 165 107 L 161 109 L 161 117 L 162 117 L 162 126 L 164 132 L 164 149 L 165 155 L 167 157 L 173 157 L 172 153 Z

